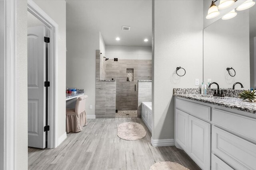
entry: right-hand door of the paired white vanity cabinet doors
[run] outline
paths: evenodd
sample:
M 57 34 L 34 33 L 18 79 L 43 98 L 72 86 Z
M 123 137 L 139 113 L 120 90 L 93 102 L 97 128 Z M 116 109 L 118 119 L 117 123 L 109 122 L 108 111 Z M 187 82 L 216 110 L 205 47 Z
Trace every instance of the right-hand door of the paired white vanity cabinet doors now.
M 189 115 L 188 155 L 203 170 L 210 170 L 210 123 Z

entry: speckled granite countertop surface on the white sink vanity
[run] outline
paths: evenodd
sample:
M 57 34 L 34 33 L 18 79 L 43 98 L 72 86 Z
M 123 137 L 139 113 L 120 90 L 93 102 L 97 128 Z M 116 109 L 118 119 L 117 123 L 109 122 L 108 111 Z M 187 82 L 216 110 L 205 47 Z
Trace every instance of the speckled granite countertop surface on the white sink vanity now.
M 240 98 L 222 98 L 208 94 L 174 94 L 174 96 L 256 114 L 256 103 L 248 102 Z

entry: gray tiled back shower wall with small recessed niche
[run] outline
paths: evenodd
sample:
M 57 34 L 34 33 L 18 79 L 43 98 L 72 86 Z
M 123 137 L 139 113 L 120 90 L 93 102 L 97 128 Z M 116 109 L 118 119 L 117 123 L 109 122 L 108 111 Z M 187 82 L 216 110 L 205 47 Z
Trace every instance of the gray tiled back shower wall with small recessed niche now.
M 116 80 L 116 109 L 138 109 L 138 80 L 152 79 L 152 60 L 109 59 L 106 65 L 106 79 Z M 126 68 L 134 69 L 134 81 L 127 81 Z M 136 85 L 136 91 L 135 91 Z

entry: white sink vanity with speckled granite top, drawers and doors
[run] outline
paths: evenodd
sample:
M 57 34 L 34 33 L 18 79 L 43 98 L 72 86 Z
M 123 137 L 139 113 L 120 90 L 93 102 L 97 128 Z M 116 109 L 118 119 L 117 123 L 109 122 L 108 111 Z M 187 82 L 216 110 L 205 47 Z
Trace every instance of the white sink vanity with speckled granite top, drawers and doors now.
M 256 169 L 256 103 L 175 94 L 175 146 L 203 170 Z

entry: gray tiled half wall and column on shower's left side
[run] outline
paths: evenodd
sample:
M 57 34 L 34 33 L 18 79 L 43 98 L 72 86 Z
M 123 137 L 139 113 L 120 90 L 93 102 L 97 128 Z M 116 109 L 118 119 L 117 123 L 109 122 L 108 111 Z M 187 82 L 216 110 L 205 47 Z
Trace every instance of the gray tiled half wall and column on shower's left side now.
M 96 50 L 96 118 L 115 118 L 116 82 L 100 81 L 100 50 Z M 106 62 L 106 61 L 104 61 Z

